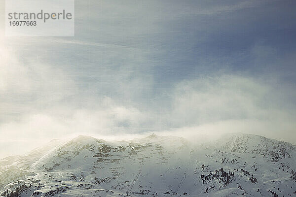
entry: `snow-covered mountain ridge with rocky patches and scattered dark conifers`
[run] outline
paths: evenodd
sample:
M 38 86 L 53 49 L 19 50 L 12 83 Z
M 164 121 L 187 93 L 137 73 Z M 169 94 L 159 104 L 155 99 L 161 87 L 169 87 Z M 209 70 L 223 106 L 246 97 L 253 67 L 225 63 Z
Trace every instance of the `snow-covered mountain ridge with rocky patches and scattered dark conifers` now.
M 243 133 L 201 146 L 154 134 L 128 141 L 78 136 L 0 160 L 0 194 L 296 196 L 295 156 L 290 143 Z

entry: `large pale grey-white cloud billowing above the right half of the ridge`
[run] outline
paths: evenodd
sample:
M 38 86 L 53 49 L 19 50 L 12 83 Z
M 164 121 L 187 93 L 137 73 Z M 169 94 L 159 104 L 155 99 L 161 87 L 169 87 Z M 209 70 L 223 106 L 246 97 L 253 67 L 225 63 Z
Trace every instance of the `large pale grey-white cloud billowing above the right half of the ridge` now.
M 268 81 L 270 82 L 270 81 Z M 218 74 L 176 85 L 166 119 L 171 133 L 187 136 L 246 132 L 295 142 L 291 87 L 250 76 Z M 281 135 L 278 135 L 281 133 Z

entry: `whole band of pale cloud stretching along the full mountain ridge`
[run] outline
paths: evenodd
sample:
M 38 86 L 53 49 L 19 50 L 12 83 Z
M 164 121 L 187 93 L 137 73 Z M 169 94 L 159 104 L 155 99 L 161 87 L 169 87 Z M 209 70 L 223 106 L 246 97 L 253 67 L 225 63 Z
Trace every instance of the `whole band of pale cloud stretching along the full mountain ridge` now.
M 143 110 L 108 97 L 100 102 L 88 99 L 90 107 L 57 103 L 2 123 L 0 134 L 5 142 L 22 139 L 17 143 L 36 144 L 78 134 L 120 139 L 151 132 L 187 138 L 247 132 L 293 142 L 295 108 L 287 109 L 274 91 L 271 84 L 252 77 L 211 75 L 176 84 L 169 93 L 169 108 Z

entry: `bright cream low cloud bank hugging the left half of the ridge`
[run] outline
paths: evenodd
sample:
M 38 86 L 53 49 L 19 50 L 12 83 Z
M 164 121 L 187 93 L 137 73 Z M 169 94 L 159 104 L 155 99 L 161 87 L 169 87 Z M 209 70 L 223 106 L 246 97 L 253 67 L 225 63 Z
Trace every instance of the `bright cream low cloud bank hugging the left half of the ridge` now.
M 18 120 L 0 124 L 0 135 L 5 136 L 0 139 L 0 157 L 24 154 L 53 138 L 70 139 L 79 134 L 118 139 L 137 132 L 144 120 L 145 114 L 136 108 L 117 105 L 110 98 L 92 109 L 58 103 L 52 109 L 26 111 Z M 7 149 L 8 144 L 15 146 Z

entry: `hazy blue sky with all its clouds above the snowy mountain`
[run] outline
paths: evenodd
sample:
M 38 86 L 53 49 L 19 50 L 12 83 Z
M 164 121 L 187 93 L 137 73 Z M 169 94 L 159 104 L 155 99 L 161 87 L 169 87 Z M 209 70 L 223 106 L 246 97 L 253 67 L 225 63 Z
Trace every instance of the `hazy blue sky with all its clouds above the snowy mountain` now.
M 0 22 L 0 158 L 78 134 L 296 144 L 295 7 L 75 0 L 74 37 L 5 37 Z

